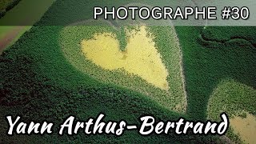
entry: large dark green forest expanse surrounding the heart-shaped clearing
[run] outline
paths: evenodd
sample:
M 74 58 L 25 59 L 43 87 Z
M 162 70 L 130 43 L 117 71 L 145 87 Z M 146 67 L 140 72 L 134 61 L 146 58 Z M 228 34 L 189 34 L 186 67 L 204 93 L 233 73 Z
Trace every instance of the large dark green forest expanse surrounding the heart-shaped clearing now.
M 116 1 L 104 2 L 104 6 L 117 5 Z M 98 5 L 101 3 L 99 2 Z M 123 3 L 118 3 L 120 5 Z M 254 27 L 176 27 L 182 46 L 183 65 L 186 75 L 188 106 L 186 114 L 178 114 L 160 106 L 144 94 L 122 86 L 98 82 L 70 64 L 62 53 L 59 34 L 65 26 L 92 18 L 93 2 L 60 1 L 46 12 L 40 22 L 0 56 L 0 103 L 1 120 L 6 114 L 22 115 L 26 121 L 52 121 L 59 123 L 69 114 L 78 118 L 96 117 L 100 112 L 106 120 L 126 119 L 137 123 L 142 114 L 154 114 L 157 118 L 177 119 L 179 117 L 202 119 L 207 117 L 207 104 L 213 90 L 222 79 L 230 78 L 255 89 L 255 32 Z M 81 12 L 81 14 L 78 14 Z M 81 11 L 80 11 L 81 10 Z M 84 18 L 86 17 L 86 18 Z M 58 22 L 56 22 L 58 20 Z M 49 26 L 50 25 L 50 26 Z M 58 26 L 54 26 L 58 25 Z M 165 28 L 156 27 L 154 34 L 164 33 Z M 120 32 L 120 34 L 122 34 Z M 202 37 L 201 37 L 202 35 Z M 242 36 L 238 38 L 238 36 Z M 160 36 L 166 42 L 165 34 Z M 200 39 L 201 38 L 201 39 Z M 204 39 L 202 39 L 204 38 Z M 230 40 L 232 39 L 232 40 Z M 242 40 L 243 39 L 243 40 Z M 226 42 L 233 42 L 227 45 Z M 242 45 L 240 44 L 242 42 Z M 78 43 L 77 43 L 78 44 Z M 162 45 L 163 46 L 163 45 Z M 165 54 L 165 53 L 163 53 Z M 165 57 L 171 54 L 166 53 Z M 171 66 L 171 62 L 168 64 Z M 226 86 L 227 88 L 228 86 Z M 224 89 L 225 90 L 225 89 Z M 232 91 L 229 91 L 231 93 Z M 177 92 L 177 93 L 180 93 Z M 250 93 L 247 93 L 250 94 Z M 238 98 L 240 94 L 230 94 Z M 246 98 L 255 98 L 248 96 Z M 241 101 L 242 98 L 238 98 Z M 254 99 L 253 99 L 254 100 Z M 246 109 L 255 115 L 254 101 L 247 99 Z M 237 102 L 237 100 L 235 100 Z M 218 102 L 222 105 L 221 102 Z M 236 103 L 237 105 L 240 102 Z M 170 104 L 171 105 L 171 104 Z M 243 109 L 243 106 L 238 106 Z M 238 107 L 233 107 L 234 110 Z M 213 112 L 218 114 L 219 112 Z M 0 132 L 6 131 L 6 122 L 1 123 Z M 2 128 L 3 127 L 3 128 Z M 3 132 L 2 132 L 3 131 Z M 25 138 L 25 139 L 23 139 Z M 157 142 L 157 143 L 202 143 L 218 142 L 218 138 L 198 135 L 151 135 L 142 137 L 136 131 L 127 131 L 122 137 L 113 135 L 62 136 L 57 134 L 1 138 L 0 142 Z M 15 141 L 16 140 L 16 141 Z

